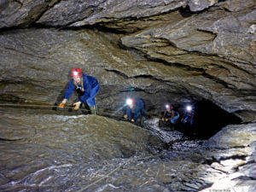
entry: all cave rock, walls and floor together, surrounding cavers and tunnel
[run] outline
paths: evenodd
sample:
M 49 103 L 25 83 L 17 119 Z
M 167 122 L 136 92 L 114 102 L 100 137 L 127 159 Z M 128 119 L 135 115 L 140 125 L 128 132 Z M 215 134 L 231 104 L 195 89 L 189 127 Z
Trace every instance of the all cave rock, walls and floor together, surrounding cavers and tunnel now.
M 1 108 L 0 190 L 255 191 L 255 20 L 254 0 L 1 1 L 1 105 L 52 107 L 80 67 L 112 119 Z M 129 96 L 143 129 L 114 120 Z M 158 127 L 166 102 L 205 100 L 242 124 L 207 141 Z

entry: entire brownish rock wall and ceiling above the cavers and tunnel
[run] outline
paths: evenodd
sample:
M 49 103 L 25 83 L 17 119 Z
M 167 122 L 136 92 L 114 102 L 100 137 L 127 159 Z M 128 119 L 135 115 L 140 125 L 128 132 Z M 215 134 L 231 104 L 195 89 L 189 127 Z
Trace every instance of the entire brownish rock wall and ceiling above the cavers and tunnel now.
M 253 0 L 1 1 L 0 10 L 2 101 L 59 102 L 81 67 L 102 84 L 101 108 L 127 93 L 152 111 L 207 99 L 255 120 Z

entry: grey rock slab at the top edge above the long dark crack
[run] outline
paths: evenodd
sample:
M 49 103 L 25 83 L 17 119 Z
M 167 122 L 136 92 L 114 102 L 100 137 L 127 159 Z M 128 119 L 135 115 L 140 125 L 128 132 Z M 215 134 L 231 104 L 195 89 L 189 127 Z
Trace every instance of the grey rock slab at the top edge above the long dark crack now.
M 87 1 L 86 3 L 71 0 L 61 1 L 53 9 L 49 9 L 42 15 L 38 23 L 47 26 L 93 25 L 98 22 L 118 19 L 160 15 L 161 13 L 185 6 L 186 3 L 187 1 L 185 0 L 125 0 L 121 3 L 115 0 Z

